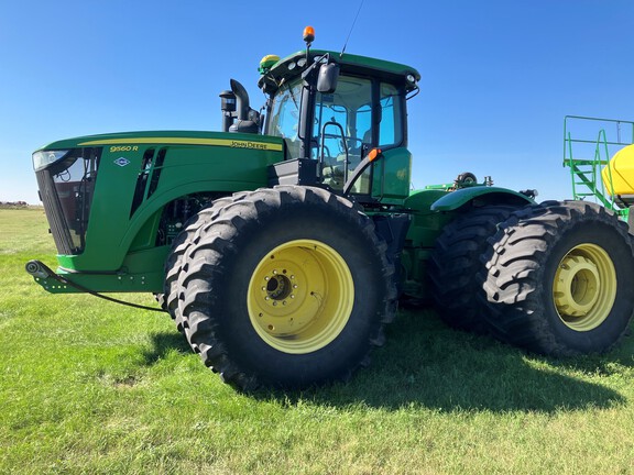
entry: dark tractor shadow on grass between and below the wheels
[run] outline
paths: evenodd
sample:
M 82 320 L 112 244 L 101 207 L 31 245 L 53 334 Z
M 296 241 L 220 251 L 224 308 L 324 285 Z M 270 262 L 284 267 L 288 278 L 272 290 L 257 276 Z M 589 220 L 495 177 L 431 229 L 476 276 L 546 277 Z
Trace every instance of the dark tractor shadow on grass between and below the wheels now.
M 610 355 L 573 362 L 529 355 L 491 338 L 451 330 L 434 312 L 402 311 L 387 329 L 385 346 L 373 353 L 372 365 L 350 383 L 273 397 L 292 405 L 310 400 L 338 407 L 424 407 L 446 412 L 605 409 L 626 399 L 586 376 L 601 374 L 597 373 L 601 367 L 614 368 L 617 363 L 611 362 Z M 261 396 L 270 399 L 272 395 Z

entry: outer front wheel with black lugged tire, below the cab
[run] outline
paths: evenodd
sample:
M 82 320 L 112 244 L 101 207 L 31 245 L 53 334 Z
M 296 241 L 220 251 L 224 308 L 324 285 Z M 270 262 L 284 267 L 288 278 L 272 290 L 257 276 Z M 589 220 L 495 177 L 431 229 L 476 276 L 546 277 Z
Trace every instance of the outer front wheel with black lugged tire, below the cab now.
M 326 190 L 276 187 L 222 208 L 188 248 L 186 334 L 239 389 L 347 379 L 382 344 L 396 286 L 372 220 Z

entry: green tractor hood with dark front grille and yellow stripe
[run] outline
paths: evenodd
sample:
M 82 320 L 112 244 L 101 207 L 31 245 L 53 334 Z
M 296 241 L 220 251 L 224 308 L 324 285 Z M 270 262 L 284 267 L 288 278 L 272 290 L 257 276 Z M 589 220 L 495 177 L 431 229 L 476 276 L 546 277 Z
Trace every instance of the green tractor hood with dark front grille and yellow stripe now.
M 181 196 L 265 185 L 266 168 L 283 150 L 282 139 L 263 135 L 125 132 L 53 142 L 33 153 L 33 167 L 58 253 L 85 256 L 87 242 L 102 235 L 127 250 L 153 213 Z M 92 222 L 94 210 L 108 220 Z M 108 228 L 96 228 L 106 221 Z M 99 254 L 97 247 L 92 253 Z M 117 259 L 97 255 L 107 262 L 90 265 L 117 268 L 123 254 Z

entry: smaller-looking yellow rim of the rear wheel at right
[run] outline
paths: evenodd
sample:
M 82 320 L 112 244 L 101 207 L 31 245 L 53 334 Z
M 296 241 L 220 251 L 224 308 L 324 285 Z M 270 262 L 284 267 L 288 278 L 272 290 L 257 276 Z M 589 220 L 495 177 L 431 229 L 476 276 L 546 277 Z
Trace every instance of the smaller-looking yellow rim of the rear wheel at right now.
M 580 244 L 564 256 L 553 286 L 561 321 L 575 331 L 599 327 L 616 298 L 616 272 L 608 253 L 595 244 Z

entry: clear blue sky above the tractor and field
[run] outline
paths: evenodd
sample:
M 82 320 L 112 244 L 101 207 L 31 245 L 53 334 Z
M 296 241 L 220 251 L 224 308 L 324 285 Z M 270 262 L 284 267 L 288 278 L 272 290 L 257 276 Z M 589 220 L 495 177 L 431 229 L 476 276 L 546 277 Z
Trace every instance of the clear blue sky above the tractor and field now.
M 266 54 L 341 49 L 360 1 L 0 1 L 0 201 L 37 202 L 31 153 L 57 139 L 218 130 L 218 93 L 263 103 Z M 634 0 L 365 0 L 347 52 L 416 67 L 415 187 L 459 173 L 570 197 L 566 114 L 634 120 Z

